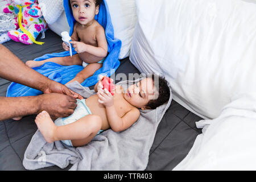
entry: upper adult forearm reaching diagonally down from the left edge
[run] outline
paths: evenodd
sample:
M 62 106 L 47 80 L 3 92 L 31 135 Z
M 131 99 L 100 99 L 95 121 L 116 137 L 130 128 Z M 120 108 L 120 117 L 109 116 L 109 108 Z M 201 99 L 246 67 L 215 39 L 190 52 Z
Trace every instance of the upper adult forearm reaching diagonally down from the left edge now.
M 0 44 L 0 77 L 31 88 L 44 91 L 49 80 L 47 77 L 27 67 L 9 49 Z

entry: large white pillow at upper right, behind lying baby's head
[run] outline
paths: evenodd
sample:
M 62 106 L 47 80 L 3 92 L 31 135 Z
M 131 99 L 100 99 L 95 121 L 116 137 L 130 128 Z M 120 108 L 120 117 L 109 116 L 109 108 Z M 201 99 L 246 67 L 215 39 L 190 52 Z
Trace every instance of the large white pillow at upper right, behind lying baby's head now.
M 216 118 L 234 94 L 256 92 L 256 1 L 139 0 L 131 62 L 166 76 L 174 100 Z

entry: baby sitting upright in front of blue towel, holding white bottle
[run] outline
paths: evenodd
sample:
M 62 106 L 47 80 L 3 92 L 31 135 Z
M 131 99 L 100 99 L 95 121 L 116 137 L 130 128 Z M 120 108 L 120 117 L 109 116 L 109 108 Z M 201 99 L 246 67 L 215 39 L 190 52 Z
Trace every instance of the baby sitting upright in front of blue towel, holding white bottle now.
M 108 43 L 105 36 L 105 30 L 94 19 L 98 14 L 102 0 L 70 0 L 73 16 L 76 20 L 71 40 L 76 55 L 70 57 L 52 57 L 44 61 L 27 61 L 28 67 L 39 67 L 47 62 L 53 62 L 60 65 L 82 65 L 84 69 L 79 72 L 73 80 L 79 83 L 92 76 L 102 67 L 104 59 L 108 54 Z M 79 42 L 80 40 L 80 42 Z M 65 51 L 69 47 L 63 42 Z M 67 83 L 67 84 L 68 84 Z

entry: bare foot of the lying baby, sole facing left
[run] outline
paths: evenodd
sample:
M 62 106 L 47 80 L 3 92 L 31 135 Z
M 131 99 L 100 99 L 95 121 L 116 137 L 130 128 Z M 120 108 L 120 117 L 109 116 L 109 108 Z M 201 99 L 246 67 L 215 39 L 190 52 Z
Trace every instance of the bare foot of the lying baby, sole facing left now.
M 47 111 L 39 113 L 35 118 L 35 123 L 46 142 L 52 143 L 55 141 L 54 134 L 57 126 L 54 124 Z

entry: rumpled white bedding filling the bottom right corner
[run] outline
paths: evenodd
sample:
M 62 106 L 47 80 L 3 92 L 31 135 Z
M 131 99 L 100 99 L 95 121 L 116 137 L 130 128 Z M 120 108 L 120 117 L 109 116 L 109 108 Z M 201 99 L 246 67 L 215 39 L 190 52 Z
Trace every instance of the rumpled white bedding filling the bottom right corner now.
M 203 128 L 174 170 L 256 170 L 256 93 L 241 94 Z

